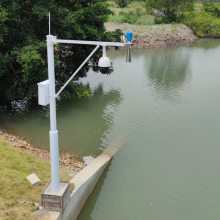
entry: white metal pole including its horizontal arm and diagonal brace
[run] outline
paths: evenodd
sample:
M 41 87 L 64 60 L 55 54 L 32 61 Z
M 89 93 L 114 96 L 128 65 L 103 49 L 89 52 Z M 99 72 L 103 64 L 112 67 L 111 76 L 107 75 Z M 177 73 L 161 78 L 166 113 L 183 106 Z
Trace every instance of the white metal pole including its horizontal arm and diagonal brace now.
M 49 15 L 50 16 L 50 15 Z M 50 24 L 49 24 L 50 29 Z M 50 32 L 50 30 L 49 30 Z M 96 48 L 64 84 L 56 95 L 55 91 L 55 67 L 54 67 L 54 44 L 82 44 L 82 45 L 96 45 Z M 57 193 L 60 191 L 60 173 L 59 173 L 59 144 L 58 144 L 58 130 L 56 119 L 56 97 L 63 91 L 66 85 L 79 72 L 84 64 L 91 58 L 95 51 L 103 46 L 103 56 L 106 56 L 106 46 L 124 47 L 125 43 L 117 42 L 101 42 L 101 41 L 80 41 L 80 40 L 60 40 L 53 35 L 47 35 L 47 60 L 48 60 L 48 79 L 49 79 L 49 103 L 50 103 L 50 163 L 51 163 L 51 191 Z

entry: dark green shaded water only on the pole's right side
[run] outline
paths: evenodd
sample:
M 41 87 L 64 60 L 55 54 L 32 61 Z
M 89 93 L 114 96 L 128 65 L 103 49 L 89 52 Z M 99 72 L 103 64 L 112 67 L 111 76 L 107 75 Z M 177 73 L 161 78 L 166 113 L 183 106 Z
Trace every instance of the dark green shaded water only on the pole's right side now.
M 74 102 L 66 100 L 58 108 L 60 143 L 63 149 L 83 155 L 85 152 L 100 153 L 101 138 L 112 126 L 109 107 L 120 103 L 119 91 L 105 93 L 100 84 L 88 99 Z

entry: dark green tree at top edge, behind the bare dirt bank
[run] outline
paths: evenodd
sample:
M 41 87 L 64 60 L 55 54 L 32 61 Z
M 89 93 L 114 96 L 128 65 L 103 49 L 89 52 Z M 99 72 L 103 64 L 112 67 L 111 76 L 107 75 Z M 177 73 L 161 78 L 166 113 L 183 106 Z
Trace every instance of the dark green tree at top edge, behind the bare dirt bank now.
M 156 9 L 165 15 L 164 22 L 175 22 L 184 10 L 193 9 L 194 0 L 146 0 L 147 9 Z

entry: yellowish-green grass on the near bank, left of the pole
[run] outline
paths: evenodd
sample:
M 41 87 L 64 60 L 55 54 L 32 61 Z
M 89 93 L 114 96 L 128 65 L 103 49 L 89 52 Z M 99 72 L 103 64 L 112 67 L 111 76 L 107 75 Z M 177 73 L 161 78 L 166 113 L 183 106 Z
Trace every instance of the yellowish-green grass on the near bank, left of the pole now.
M 0 140 L 0 219 L 34 219 L 34 202 L 50 179 L 48 161 L 22 152 Z M 35 172 L 42 184 L 32 186 L 26 176 Z M 23 202 L 22 202 L 23 201 Z

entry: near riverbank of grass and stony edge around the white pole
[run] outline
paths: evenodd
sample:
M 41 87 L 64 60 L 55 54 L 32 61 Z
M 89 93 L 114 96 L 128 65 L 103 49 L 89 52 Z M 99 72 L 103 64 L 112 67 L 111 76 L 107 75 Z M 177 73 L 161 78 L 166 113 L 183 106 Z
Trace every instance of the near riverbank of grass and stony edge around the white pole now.
M 36 219 L 33 211 L 50 180 L 49 152 L 0 130 L 0 157 L 0 219 Z M 60 165 L 62 180 L 70 180 L 84 168 L 80 158 L 66 153 L 61 154 Z M 40 178 L 40 185 L 27 181 L 32 172 Z

